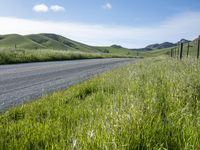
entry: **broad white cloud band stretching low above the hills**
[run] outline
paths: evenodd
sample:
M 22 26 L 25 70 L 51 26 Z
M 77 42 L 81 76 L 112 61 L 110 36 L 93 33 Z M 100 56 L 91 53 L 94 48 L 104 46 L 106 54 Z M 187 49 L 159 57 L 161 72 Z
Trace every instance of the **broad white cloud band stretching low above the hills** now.
M 155 26 L 134 27 L 0 17 L 0 34 L 48 32 L 90 45 L 120 44 L 137 48 L 151 43 L 176 42 L 181 38 L 194 39 L 200 34 L 199 18 L 200 12 L 187 12 Z

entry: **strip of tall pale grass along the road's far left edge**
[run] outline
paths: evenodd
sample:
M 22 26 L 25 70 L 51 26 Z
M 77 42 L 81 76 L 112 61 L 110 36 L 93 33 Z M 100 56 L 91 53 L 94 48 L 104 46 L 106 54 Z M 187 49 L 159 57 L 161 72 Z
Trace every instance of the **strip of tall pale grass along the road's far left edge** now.
M 133 57 L 132 55 L 111 53 L 89 53 L 59 50 L 0 50 L 0 64 L 15 64 L 28 62 Z

